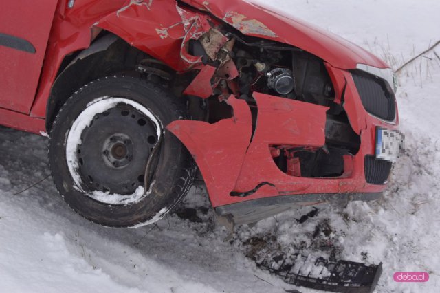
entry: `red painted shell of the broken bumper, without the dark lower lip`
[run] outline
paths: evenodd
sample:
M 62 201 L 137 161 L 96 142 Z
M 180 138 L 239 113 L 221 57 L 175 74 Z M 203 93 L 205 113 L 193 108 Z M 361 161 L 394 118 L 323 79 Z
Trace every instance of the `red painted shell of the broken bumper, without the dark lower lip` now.
M 273 159 L 279 149 L 314 151 L 325 146 L 328 108 L 320 105 L 254 92 L 258 114 L 253 136 L 250 107 L 234 96 L 227 100 L 234 109 L 232 118 L 214 124 L 179 120 L 167 129 L 195 158 L 213 207 L 285 195 L 380 193 L 386 185 L 366 183 L 364 158 L 374 153 L 375 125 L 382 122 L 356 107 L 355 94 L 347 86 L 344 107 L 362 143 L 356 155 L 344 155 L 344 173 L 338 177 L 300 177 L 293 155 L 284 173 Z

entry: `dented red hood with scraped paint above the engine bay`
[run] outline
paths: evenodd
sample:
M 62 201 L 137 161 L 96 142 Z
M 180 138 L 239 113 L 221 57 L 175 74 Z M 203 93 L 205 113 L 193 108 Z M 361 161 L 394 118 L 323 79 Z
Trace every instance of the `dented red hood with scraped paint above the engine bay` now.
M 234 26 L 248 36 L 258 36 L 299 47 L 340 69 L 355 69 L 358 63 L 389 67 L 380 58 L 346 39 L 296 19 L 262 3 L 249 0 L 183 0 L 199 10 Z

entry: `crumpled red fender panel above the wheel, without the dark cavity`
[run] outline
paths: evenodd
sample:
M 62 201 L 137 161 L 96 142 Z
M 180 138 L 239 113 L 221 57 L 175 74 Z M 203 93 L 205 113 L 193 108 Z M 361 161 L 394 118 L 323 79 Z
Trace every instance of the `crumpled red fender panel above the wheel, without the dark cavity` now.
M 47 46 L 39 91 L 31 116 L 47 117 L 47 99 L 58 69 L 69 54 L 87 50 L 102 30 L 163 61 L 177 72 L 201 68 L 201 58 L 186 52 L 186 42 L 210 30 L 210 17 L 184 10 L 176 1 L 76 0 L 72 8 L 60 1 Z M 211 23 L 216 23 L 210 19 Z M 83 54 L 90 54 L 86 51 Z

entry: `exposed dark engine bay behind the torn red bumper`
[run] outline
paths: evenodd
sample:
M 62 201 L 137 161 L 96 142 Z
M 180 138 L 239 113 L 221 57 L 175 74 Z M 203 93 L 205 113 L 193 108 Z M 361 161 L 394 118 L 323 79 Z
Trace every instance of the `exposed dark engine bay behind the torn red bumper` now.
M 270 146 L 274 163 L 283 173 L 338 177 L 344 173 L 344 156 L 358 152 L 360 137 L 341 102 L 335 102 L 331 78 L 320 58 L 229 27 L 210 29 L 199 39 L 190 39 L 188 54 L 199 56 L 204 65 L 184 90 L 197 120 L 214 123 L 230 118 L 232 109 L 224 100 L 231 94 L 248 103 L 253 131 L 258 121 L 254 92 L 329 108 L 323 147 Z

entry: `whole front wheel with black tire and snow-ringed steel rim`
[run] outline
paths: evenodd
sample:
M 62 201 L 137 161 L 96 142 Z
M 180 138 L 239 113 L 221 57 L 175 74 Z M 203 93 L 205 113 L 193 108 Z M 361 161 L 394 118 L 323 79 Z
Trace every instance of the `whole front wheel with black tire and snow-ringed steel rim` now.
M 79 89 L 50 132 L 50 166 L 65 202 L 98 224 L 161 219 L 186 195 L 195 164 L 164 126 L 184 102 L 145 80 L 114 76 Z

